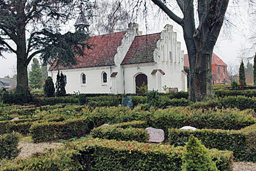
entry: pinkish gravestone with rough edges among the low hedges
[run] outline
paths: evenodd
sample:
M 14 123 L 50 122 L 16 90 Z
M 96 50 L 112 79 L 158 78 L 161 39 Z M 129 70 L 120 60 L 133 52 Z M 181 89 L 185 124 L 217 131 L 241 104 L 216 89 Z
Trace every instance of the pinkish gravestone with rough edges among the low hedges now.
M 165 132 L 163 129 L 146 128 L 149 134 L 149 142 L 163 142 L 165 140 Z

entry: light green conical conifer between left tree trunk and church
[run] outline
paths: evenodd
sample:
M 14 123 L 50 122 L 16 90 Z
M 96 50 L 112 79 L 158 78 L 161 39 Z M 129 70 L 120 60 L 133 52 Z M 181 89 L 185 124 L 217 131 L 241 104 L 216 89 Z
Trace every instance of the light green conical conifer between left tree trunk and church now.
M 32 63 L 32 69 L 29 72 L 29 86 L 32 88 L 42 88 L 43 74 L 40 69 L 39 61 L 34 58 Z

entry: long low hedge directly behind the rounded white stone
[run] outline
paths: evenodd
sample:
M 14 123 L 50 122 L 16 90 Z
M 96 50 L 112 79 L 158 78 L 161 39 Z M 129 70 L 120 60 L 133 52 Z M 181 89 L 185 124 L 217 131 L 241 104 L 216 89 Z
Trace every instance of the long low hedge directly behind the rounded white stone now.
M 149 113 L 145 120 L 153 128 L 161 128 L 167 132 L 168 128 L 182 128 L 193 126 L 199 129 L 241 129 L 256 123 L 253 110 L 233 109 L 190 109 L 189 107 L 175 107 L 157 110 Z

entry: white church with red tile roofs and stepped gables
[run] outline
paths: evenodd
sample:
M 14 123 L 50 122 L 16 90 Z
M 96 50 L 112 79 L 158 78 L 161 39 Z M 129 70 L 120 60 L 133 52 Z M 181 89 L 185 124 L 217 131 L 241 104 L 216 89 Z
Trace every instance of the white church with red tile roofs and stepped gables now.
M 77 56 L 76 66 L 53 64 L 48 75 L 56 82 L 58 71 L 66 78 L 67 93 L 141 93 L 138 87 L 163 92 L 163 87 L 187 91 L 187 73 L 183 71 L 183 51 L 173 26 L 161 33 L 141 35 L 138 24 L 124 32 L 94 36 L 92 49 Z

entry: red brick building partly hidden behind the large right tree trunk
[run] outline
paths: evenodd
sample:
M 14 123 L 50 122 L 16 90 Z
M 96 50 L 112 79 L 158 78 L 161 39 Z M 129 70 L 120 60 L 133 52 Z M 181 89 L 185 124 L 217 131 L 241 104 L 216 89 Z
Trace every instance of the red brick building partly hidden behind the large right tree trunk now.
M 184 67 L 189 67 L 189 56 L 184 56 Z M 213 74 L 213 84 L 227 83 L 227 64 L 220 59 L 215 53 L 211 57 L 211 70 Z

